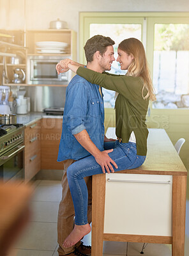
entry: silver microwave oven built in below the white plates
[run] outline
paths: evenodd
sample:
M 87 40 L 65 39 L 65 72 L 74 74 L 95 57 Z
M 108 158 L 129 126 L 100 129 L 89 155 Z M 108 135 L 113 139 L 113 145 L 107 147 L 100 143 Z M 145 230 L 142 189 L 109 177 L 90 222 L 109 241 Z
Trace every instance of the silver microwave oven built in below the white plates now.
M 72 71 L 59 75 L 56 72 L 57 63 L 63 59 L 63 56 L 27 56 L 27 84 L 68 84 Z

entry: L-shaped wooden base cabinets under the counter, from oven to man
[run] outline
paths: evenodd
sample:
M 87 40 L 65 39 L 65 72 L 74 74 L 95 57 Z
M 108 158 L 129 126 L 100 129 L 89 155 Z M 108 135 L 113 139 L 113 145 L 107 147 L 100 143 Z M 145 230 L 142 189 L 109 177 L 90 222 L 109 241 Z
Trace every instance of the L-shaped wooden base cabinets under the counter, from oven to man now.
M 25 141 L 25 181 L 31 180 L 40 170 L 63 170 L 57 162 L 63 118 L 42 118 L 27 125 Z

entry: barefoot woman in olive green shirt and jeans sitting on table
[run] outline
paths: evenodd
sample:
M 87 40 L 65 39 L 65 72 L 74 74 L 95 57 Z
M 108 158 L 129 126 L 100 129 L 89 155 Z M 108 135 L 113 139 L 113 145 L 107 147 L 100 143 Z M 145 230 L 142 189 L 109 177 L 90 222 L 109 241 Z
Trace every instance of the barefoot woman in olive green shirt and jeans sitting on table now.
M 100 74 L 78 63 L 61 61 L 57 72 L 69 68 L 92 84 L 116 91 L 116 136 L 114 150 L 109 153 L 117 164 L 113 172 L 133 169 L 142 165 L 147 153 L 147 127 L 145 124 L 149 100 L 155 100 L 153 85 L 149 76 L 146 54 L 142 43 L 136 38 L 123 40 L 117 49 L 122 70 L 128 70 L 126 76 L 116 76 L 103 72 Z M 93 156 L 89 156 L 93 157 Z M 86 157 L 87 158 L 87 157 Z M 91 166 L 81 159 L 73 163 L 67 170 L 68 184 L 75 208 L 75 227 L 63 246 L 70 247 L 91 230 L 87 223 L 87 187 L 84 177 L 102 173 L 101 166 L 96 163 L 95 156 Z

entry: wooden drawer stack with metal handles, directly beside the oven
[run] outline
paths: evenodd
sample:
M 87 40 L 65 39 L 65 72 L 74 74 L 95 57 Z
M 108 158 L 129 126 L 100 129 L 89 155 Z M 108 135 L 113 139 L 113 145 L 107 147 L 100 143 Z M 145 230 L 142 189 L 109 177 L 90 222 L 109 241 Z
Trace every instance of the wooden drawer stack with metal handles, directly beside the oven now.
M 24 141 L 25 181 L 28 182 L 41 170 L 41 120 L 26 127 Z

